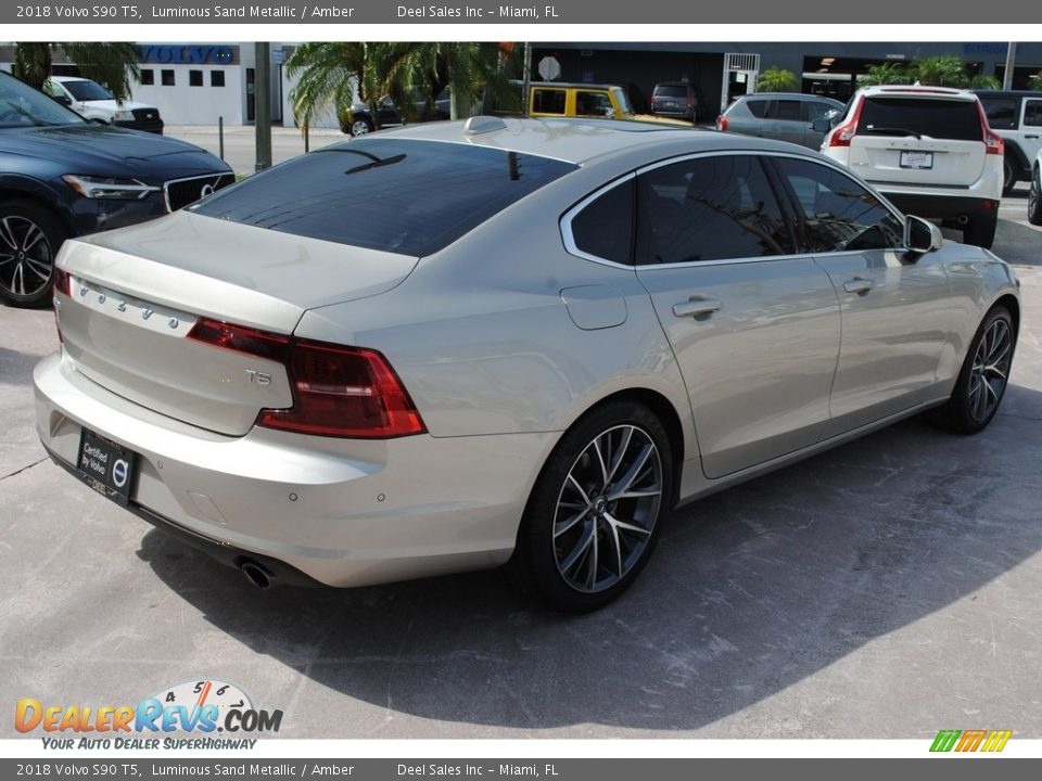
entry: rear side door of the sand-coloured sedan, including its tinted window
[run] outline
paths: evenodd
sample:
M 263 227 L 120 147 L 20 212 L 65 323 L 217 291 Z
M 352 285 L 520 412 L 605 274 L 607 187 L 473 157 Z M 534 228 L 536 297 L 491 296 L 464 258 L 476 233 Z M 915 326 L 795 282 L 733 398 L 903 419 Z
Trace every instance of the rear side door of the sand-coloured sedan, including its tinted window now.
M 839 353 L 836 293 L 793 253 L 760 157 L 707 154 L 637 176 L 637 277 L 687 385 L 715 478 L 813 445 Z

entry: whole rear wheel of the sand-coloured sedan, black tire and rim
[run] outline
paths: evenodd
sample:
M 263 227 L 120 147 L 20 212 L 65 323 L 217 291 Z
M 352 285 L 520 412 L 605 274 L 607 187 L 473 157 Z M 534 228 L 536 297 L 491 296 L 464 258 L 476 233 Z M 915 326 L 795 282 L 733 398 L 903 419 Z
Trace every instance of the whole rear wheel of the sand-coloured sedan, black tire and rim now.
M 586 613 L 644 568 L 672 508 L 673 459 L 659 419 L 617 401 L 582 419 L 536 481 L 514 567 L 551 607 Z

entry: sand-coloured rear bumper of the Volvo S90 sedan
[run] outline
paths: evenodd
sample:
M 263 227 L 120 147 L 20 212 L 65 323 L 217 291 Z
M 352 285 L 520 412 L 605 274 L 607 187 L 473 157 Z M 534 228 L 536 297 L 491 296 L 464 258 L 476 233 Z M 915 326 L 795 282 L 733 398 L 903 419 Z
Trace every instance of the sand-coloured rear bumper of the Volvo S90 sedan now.
M 34 384 L 37 432 L 55 461 L 76 472 L 84 427 L 134 450 L 128 509 L 276 581 L 364 586 L 505 563 L 556 440 L 227 437 L 115 396 L 62 354 L 37 366 Z

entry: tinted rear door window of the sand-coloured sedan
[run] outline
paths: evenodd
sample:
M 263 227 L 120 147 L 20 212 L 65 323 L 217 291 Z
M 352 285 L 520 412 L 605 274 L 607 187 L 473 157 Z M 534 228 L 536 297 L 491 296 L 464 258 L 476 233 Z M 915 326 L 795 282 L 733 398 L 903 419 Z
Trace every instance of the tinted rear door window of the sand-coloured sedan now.
M 682 161 L 637 177 L 637 258 L 674 264 L 788 255 L 792 241 L 754 155 Z

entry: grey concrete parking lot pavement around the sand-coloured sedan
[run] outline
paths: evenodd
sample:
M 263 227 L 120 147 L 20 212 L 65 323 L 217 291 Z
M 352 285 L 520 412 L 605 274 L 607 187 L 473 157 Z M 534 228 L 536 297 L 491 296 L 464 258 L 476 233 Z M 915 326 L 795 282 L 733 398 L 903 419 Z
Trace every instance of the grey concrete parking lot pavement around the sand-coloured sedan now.
M 282 709 L 288 738 L 1042 738 L 1042 230 L 1025 197 L 1004 200 L 994 246 L 1024 321 L 988 430 L 908 420 L 690 504 L 634 588 L 577 618 L 497 573 L 252 588 L 45 458 L 30 376 L 53 317 L 0 307 L 0 703 L 212 679 Z

